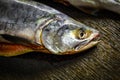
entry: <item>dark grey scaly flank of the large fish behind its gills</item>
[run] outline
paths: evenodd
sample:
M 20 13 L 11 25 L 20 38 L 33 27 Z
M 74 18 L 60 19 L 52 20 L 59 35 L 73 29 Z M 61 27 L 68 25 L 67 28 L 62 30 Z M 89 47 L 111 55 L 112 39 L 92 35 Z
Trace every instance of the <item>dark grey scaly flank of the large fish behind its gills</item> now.
M 37 25 L 43 24 L 43 22 L 47 21 L 49 19 L 48 16 L 52 17 L 50 16 L 50 13 L 39 10 L 30 5 L 16 3 L 13 1 L 10 3 L 7 1 L 1 2 L 0 4 L 0 25 L 2 26 L 0 27 L 1 34 L 24 37 L 19 35 L 21 33 L 28 32 L 29 30 L 29 33 L 24 35 L 33 33 L 32 36 L 34 37 L 37 28 L 40 27 Z M 37 23 L 38 20 L 42 19 L 44 19 L 42 22 Z M 24 38 L 26 38 L 26 36 Z M 28 37 L 26 39 L 28 39 Z

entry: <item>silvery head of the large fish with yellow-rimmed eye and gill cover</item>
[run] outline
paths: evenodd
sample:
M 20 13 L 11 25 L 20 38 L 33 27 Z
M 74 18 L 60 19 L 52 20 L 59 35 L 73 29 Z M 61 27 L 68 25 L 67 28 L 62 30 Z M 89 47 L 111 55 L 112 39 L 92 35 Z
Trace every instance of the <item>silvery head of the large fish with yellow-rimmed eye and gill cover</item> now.
M 75 54 L 98 44 L 98 36 L 99 31 L 73 19 L 56 20 L 43 29 L 42 44 L 53 54 Z

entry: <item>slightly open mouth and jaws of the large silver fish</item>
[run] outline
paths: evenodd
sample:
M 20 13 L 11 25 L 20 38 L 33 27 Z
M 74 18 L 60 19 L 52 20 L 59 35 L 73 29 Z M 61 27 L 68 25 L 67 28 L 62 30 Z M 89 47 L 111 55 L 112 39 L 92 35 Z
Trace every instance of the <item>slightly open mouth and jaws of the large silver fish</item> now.
M 93 36 L 94 37 L 92 39 L 90 39 L 87 44 L 85 44 L 83 46 L 78 45 L 75 48 L 75 51 L 81 52 L 81 51 L 85 51 L 89 48 L 92 48 L 92 47 L 96 46 L 100 42 L 100 34 L 99 33 L 94 33 Z

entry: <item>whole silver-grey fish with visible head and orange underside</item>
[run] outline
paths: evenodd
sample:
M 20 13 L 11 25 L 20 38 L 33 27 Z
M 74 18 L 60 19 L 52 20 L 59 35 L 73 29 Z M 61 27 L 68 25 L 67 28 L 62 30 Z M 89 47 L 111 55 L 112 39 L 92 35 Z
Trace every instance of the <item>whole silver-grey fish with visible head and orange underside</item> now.
M 0 56 L 31 51 L 75 54 L 95 46 L 98 35 L 99 31 L 44 4 L 0 1 Z

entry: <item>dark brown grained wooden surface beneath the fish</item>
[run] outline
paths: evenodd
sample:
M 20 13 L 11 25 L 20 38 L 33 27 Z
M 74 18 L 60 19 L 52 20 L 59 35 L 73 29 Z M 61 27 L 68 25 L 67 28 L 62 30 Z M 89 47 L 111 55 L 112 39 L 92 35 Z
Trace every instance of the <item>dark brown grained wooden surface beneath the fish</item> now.
M 76 55 L 33 52 L 0 57 L 0 80 L 120 80 L 120 15 L 102 11 L 98 16 L 91 16 L 72 6 L 50 0 L 41 2 L 98 29 L 101 42 Z

